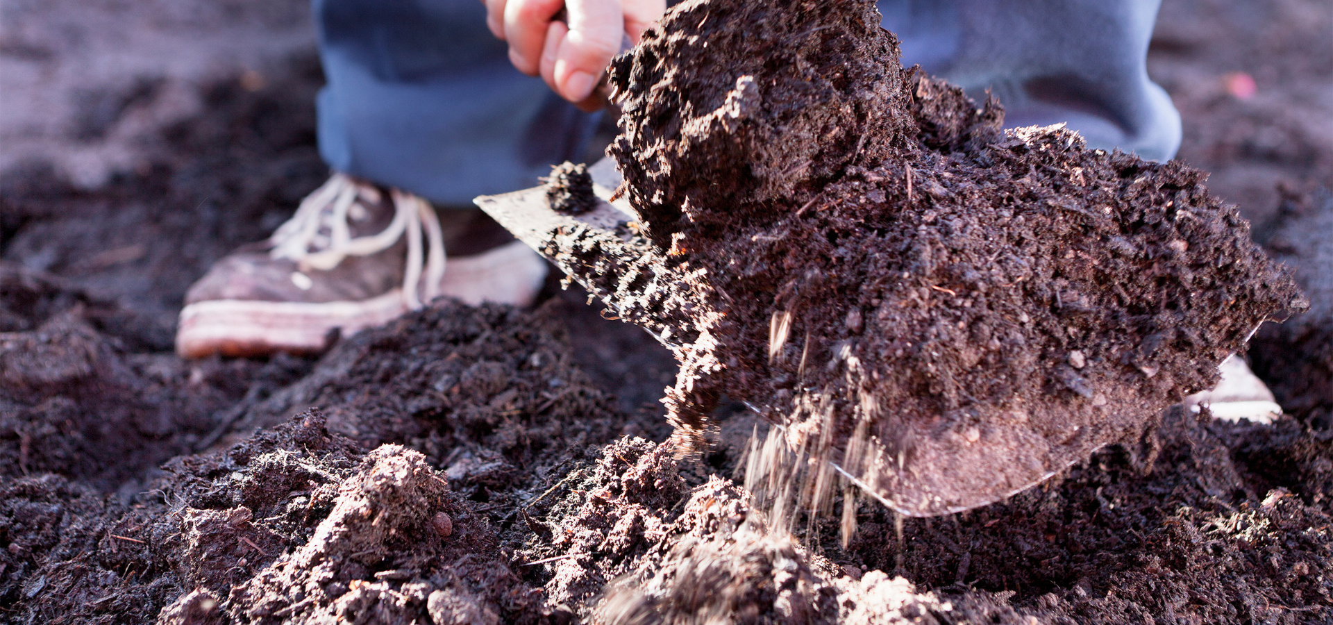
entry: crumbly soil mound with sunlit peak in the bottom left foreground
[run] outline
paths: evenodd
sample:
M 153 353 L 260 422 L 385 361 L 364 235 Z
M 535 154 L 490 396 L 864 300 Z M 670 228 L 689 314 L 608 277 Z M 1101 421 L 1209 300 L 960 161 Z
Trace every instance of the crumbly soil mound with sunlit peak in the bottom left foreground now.
M 329 434 L 317 412 L 167 468 L 172 474 L 131 506 L 53 476 L 7 485 L 4 557 L 27 574 L 4 592 L 28 600 L 23 618 L 420 622 L 459 613 L 463 621 L 435 622 L 531 622 L 540 614 L 485 516 L 420 453 L 397 445 L 365 453 Z

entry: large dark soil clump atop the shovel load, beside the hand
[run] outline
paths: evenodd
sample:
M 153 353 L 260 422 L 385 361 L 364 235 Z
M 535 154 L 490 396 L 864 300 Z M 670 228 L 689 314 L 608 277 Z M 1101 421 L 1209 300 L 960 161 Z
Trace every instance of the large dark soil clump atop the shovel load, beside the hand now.
M 609 153 L 663 249 L 804 203 L 910 135 L 897 40 L 870 3 L 692 1 L 649 32 L 612 61 Z

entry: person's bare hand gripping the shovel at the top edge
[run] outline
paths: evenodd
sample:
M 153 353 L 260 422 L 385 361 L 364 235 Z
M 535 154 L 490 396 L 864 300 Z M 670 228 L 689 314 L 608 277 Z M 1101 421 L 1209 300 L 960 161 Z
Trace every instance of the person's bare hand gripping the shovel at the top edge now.
M 552 91 L 584 111 L 600 107 L 593 93 L 611 57 L 628 35 L 666 11 L 665 0 L 483 0 L 491 32 L 509 43 L 509 60 L 528 76 L 541 75 Z M 556 19 L 567 9 L 568 24 Z

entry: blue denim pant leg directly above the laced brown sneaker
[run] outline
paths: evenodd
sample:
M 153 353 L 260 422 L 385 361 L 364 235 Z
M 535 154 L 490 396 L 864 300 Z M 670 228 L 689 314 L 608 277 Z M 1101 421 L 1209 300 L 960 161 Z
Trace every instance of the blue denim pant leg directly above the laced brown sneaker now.
M 532 187 L 596 116 L 519 73 L 477 0 L 313 0 L 320 156 L 441 205 Z

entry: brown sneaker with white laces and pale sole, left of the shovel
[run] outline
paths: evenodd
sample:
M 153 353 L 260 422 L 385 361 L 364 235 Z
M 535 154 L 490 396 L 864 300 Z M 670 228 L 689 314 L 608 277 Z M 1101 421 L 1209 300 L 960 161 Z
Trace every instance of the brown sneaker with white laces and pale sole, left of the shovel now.
M 189 288 L 176 352 L 319 353 L 437 296 L 532 304 L 545 260 L 480 211 L 443 217 L 421 197 L 335 173 L 272 237 Z

